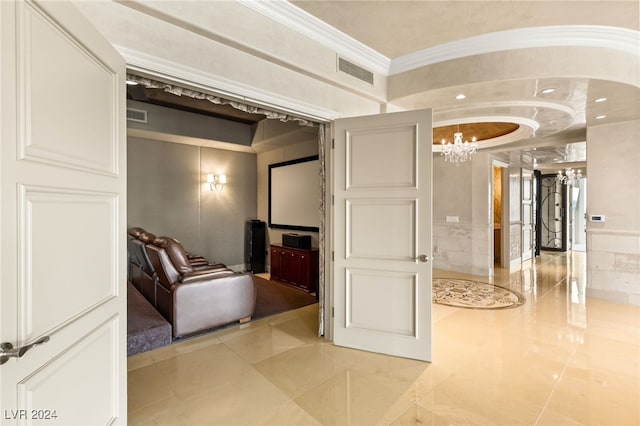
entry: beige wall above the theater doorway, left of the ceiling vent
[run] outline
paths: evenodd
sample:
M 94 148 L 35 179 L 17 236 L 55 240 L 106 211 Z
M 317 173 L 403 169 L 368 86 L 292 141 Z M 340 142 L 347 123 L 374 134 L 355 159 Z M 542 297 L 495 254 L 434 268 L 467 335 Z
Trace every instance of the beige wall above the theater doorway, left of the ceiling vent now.
M 377 75 L 371 86 L 339 73 L 334 51 L 239 2 L 217 2 L 215 13 L 203 13 L 198 2 L 147 2 L 142 11 L 126 2 L 76 6 L 107 40 L 135 57 L 126 58 L 128 64 L 144 63 L 143 69 L 156 62 L 151 66 L 164 69 L 154 72 L 221 91 L 245 88 L 240 95 L 331 116 L 325 118 L 375 114 L 385 99 L 385 77 Z M 171 19 L 174 14 L 180 18 Z

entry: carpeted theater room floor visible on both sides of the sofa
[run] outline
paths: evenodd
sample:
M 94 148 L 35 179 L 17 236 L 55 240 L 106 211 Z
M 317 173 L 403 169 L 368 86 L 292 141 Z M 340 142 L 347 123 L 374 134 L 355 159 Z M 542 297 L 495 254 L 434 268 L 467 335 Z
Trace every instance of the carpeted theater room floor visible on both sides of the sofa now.
M 314 294 L 256 275 L 252 277 L 257 290 L 256 309 L 252 321 L 317 302 Z M 171 326 L 131 284 L 128 286 L 127 312 L 128 356 L 172 343 Z M 209 331 L 204 333 L 207 332 Z

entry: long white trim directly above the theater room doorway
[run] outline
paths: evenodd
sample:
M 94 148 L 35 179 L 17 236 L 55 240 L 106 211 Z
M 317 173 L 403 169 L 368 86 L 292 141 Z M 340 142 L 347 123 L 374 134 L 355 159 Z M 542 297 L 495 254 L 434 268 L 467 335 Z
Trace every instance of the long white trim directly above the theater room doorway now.
M 230 100 L 237 100 L 265 109 L 307 118 L 315 122 L 332 121 L 340 117 L 337 111 L 277 95 L 237 81 L 229 80 L 186 65 L 148 55 L 123 46 L 114 46 L 124 57 L 127 69 L 167 82 L 202 90 Z

